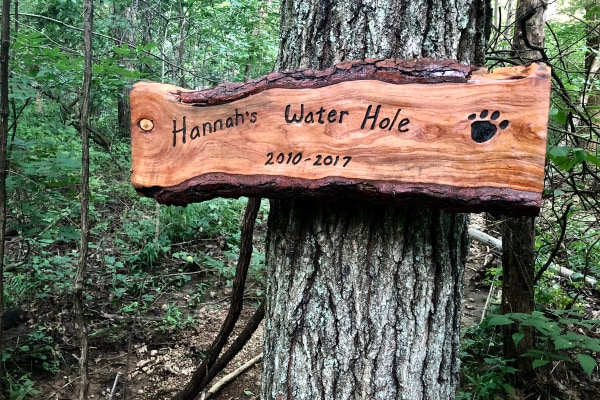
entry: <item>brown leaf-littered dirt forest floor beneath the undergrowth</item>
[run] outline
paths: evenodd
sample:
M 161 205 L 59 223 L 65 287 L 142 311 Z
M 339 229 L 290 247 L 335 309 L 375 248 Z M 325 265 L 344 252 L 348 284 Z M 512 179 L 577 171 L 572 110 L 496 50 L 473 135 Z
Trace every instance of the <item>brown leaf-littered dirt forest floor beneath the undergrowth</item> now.
M 477 229 L 486 231 L 481 217 L 473 218 L 471 226 L 473 225 Z M 493 232 L 488 233 L 494 235 Z M 497 234 L 494 236 L 498 237 Z M 212 245 L 207 244 L 207 246 Z M 214 247 L 212 246 L 213 249 Z M 493 268 L 495 262 L 497 256 L 492 255 L 489 248 L 472 241 L 464 277 L 463 328 L 479 324 L 485 310 L 498 304 L 500 294 L 497 290 L 492 290 L 490 293 L 490 286 L 486 283 L 486 270 L 490 266 Z M 94 270 L 95 268 L 101 267 L 92 266 L 90 275 L 100 276 L 102 271 Z M 231 289 L 225 282 L 213 276 L 194 274 L 191 277 L 184 286 L 165 293 L 162 301 L 155 302 L 152 309 L 145 310 L 137 317 L 105 311 L 109 309 L 106 304 L 108 301 L 103 302 L 99 299 L 109 297 L 106 285 L 99 284 L 91 288 L 97 293 L 88 293 L 89 298 L 93 300 L 86 305 L 91 338 L 90 399 L 170 399 L 190 379 L 223 323 L 231 294 Z M 190 308 L 188 307 L 189 291 L 186 291 L 186 287 L 199 284 L 209 289 L 201 303 L 195 308 Z M 247 288 L 250 298 L 253 295 L 256 298 L 257 289 L 252 285 Z M 53 303 L 52 300 L 35 301 L 27 310 L 27 322 L 5 331 L 6 343 L 9 346 L 18 346 L 20 338 L 39 329 L 40 326 L 53 327 L 54 340 L 58 343 L 54 345 L 53 354 L 60 360 L 60 368 L 56 374 L 49 376 L 41 372 L 40 366 L 36 365 L 40 362 L 39 359 L 31 361 L 32 379 L 41 392 L 35 396 L 36 399 L 77 398 L 79 339 L 75 319 L 67 300 L 63 304 Z M 600 309 L 599 303 L 600 299 L 596 298 L 594 302 L 596 312 Z M 169 307 L 173 307 L 173 304 L 179 304 L 180 307 L 177 309 L 189 315 L 178 315 L 177 321 L 187 322 L 170 329 L 164 326 L 165 313 Z M 256 304 L 252 300 L 246 304 L 233 337 L 236 337 L 245 326 L 255 307 Z M 60 335 L 56 332 L 60 332 Z M 255 332 L 244 349 L 215 381 L 261 352 L 262 327 Z M 555 370 L 560 370 L 564 375 L 553 382 L 554 393 L 556 387 L 563 388 L 562 395 L 559 394 L 557 398 L 592 399 L 595 397 L 590 396 L 597 395 L 597 392 L 593 391 L 594 386 L 600 384 L 597 371 L 592 378 L 587 378 L 583 373 L 570 371 L 568 367 L 555 367 Z M 259 362 L 225 386 L 213 398 L 217 400 L 258 399 L 260 379 Z

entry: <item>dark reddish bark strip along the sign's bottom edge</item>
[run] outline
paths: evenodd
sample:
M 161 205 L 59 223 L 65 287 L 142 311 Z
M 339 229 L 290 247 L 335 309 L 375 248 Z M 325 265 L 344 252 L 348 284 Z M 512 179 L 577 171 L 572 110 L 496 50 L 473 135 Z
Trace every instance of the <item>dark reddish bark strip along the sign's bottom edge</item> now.
M 369 181 L 327 177 L 301 179 L 270 175 L 230 175 L 212 173 L 191 178 L 171 187 L 138 187 L 137 192 L 157 202 L 184 206 L 216 197 L 237 198 L 366 198 L 373 203 L 407 204 L 410 202 L 453 212 L 490 212 L 504 215 L 539 213 L 541 193 L 508 188 L 459 188 L 432 183 L 409 184 L 397 181 Z

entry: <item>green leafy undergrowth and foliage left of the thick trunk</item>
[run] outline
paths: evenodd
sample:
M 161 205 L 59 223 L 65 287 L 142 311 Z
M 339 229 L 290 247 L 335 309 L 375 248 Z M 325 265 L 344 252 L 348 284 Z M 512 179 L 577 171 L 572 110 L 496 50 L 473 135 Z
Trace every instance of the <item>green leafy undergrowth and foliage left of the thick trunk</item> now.
M 129 182 L 130 145 L 118 110 L 140 79 L 179 84 L 183 78 L 186 86 L 203 88 L 270 72 L 279 19 L 279 2 L 180 3 L 181 10 L 175 3 L 157 2 L 131 14 L 137 3 L 97 5 L 88 121 L 92 243 L 84 290 L 90 315 L 96 315 L 96 305 L 102 312 L 129 316 L 159 310 L 163 319 L 157 329 L 166 332 L 193 323 L 185 311 L 202 301 L 214 276 L 223 281 L 234 276 L 245 200 L 157 208 L 153 200 L 139 198 Z M 14 243 L 6 263 L 14 268 L 5 275 L 3 295 L 8 306 L 68 308 L 80 239 L 81 2 L 22 1 L 19 11 L 19 30 L 11 31 L 14 130 L 7 178 L 7 227 Z M 257 249 L 252 265 L 252 279 L 263 279 L 264 255 Z M 185 300 L 172 301 L 169 292 L 182 290 Z M 99 328 L 91 337 L 119 336 L 113 327 Z M 55 337 L 63 332 L 56 333 L 37 325 L 5 348 L 9 373 L 3 379 L 11 399 L 37 394 L 35 376 L 23 374 L 22 367 L 57 372 L 61 343 Z

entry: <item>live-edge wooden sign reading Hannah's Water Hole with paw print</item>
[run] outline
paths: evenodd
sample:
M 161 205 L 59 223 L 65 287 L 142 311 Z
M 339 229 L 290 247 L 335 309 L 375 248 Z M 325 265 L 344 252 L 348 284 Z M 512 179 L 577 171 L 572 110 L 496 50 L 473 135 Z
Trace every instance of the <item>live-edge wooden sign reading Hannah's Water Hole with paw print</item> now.
M 366 59 L 131 91 L 132 183 L 160 203 L 361 197 L 539 212 L 550 69 Z

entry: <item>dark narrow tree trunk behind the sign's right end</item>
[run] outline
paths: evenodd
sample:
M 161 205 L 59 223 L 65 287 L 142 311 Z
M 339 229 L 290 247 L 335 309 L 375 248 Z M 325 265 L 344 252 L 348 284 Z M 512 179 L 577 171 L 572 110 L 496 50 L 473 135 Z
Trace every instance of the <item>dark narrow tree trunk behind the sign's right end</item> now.
M 547 3 L 545 0 L 519 0 L 515 18 L 515 34 L 513 51 L 523 62 L 539 60 L 539 51 L 526 46 L 524 35 L 527 35 L 533 46 L 544 46 L 544 21 Z M 535 10 L 533 17 L 525 22 L 526 31 L 522 29 L 524 16 Z M 502 312 L 530 314 L 535 309 L 535 218 L 508 218 L 500 224 L 502 232 Z M 515 345 L 513 334 L 521 329 L 525 334 Z M 504 357 L 515 360 L 519 369 L 519 378 L 526 382 L 533 366 L 531 359 L 521 357 L 534 345 L 534 329 L 505 325 L 503 327 Z

